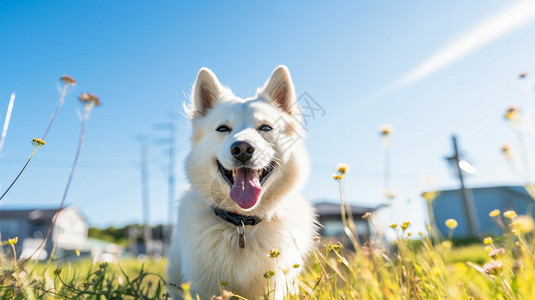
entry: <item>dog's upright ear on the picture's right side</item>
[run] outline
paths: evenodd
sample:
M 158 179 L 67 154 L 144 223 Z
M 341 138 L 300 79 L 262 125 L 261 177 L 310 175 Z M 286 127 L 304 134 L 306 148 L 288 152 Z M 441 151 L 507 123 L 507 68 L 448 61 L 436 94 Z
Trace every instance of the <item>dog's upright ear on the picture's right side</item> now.
M 295 89 L 292 76 L 286 66 L 278 66 L 262 88 L 261 94 L 267 95 L 285 112 L 291 114 L 295 106 Z

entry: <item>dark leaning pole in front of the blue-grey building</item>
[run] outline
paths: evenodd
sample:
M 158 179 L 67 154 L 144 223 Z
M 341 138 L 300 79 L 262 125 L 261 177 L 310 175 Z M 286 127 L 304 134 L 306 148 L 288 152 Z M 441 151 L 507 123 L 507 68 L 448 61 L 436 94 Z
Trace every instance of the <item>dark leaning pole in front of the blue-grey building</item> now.
M 474 198 L 472 193 L 464 185 L 463 170 L 461 169 L 459 162 L 461 161 L 459 149 L 457 147 L 457 137 L 452 135 L 451 141 L 453 144 L 453 156 L 448 157 L 448 160 L 455 165 L 457 175 L 459 176 L 459 182 L 461 184 L 461 199 L 463 202 L 463 207 L 465 211 L 465 217 L 468 221 L 468 231 L 471 236 L 477 236 L 479 233 L 479 223 L 477 220 L 476 207 L 474 204 Z

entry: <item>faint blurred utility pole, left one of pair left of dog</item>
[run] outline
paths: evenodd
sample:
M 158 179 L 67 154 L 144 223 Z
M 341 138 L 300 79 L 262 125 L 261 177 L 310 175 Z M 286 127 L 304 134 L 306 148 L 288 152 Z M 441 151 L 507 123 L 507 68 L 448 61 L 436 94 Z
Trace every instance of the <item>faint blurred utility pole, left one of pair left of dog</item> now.
M 141 154 L 141 201 L 143 207 L 143 239 L 145 240 L 145 254 L 152 255 L 152 230 L 149 225 L 150 207 L 149 207 L 149 172 L 147 168 L 148 149 L 147 139 L 144 136 L 138 137 L 140 142 Z

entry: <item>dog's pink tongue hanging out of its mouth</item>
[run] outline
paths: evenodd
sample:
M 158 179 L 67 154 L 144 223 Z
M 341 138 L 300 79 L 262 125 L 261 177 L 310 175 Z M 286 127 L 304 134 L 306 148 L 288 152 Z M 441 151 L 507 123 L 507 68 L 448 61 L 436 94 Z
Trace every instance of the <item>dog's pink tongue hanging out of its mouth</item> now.
M 248 168 L 239 168 L 236 170 L 234 185 L 230 190 L 230 198 L 241 208 L 249 209 L 253 207 L 260 197 L 262 188 L 258 172 Z

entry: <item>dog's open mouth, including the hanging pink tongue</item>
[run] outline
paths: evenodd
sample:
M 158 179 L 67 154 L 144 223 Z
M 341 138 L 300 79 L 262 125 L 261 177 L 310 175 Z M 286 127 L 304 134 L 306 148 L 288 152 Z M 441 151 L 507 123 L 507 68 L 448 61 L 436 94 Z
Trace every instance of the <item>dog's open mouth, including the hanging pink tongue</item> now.
M 219 172 L 230 185 L 230 198 L 243 209 L 250 209 L 258 202 L 262 185 L 273 171 L 273 163 L 260 170 L 237 168 L 228 170 L 217 161 Z

